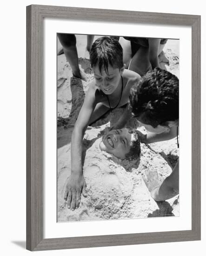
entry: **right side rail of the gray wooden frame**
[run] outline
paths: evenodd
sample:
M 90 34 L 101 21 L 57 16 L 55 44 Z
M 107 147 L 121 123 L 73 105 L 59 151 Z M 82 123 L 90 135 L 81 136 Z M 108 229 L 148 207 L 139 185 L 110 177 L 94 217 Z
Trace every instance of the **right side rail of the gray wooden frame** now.
M 201 237 L 201 20 L 192 26 L 192 229 Z

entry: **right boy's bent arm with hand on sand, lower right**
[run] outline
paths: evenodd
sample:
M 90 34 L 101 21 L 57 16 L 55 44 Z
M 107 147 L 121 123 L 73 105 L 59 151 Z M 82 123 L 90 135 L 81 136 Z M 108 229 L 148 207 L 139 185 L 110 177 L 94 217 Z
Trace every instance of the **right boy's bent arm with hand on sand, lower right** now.
M 143 178 L 155 201 L 164 201 L 179 194 L 179 161 L 175 165 L 171 175 L 163 182 L 159 181 L 157 172 L 149 171 Z

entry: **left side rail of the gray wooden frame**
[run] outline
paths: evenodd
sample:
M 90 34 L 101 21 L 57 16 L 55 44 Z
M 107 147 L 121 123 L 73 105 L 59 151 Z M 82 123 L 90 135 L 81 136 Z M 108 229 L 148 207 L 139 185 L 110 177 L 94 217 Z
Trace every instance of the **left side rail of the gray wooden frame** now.
M 43 239 L 42 17 L 27 7 L 27 249 Z

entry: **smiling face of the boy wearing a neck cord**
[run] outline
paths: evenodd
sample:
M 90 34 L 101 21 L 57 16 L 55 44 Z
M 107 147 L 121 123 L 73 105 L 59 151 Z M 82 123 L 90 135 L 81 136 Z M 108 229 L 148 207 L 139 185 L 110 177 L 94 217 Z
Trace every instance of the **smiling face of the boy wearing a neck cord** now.
M 100 72 L 99 67 L 93 67 L 94 78 L 96 86 L 99 87 L 104 94 L 112 94 L 121 82 L 121 74 L 124 67 L 121 70 L 118 67 L 112 67 L 108 65 L 108 72 L 102 69 Z

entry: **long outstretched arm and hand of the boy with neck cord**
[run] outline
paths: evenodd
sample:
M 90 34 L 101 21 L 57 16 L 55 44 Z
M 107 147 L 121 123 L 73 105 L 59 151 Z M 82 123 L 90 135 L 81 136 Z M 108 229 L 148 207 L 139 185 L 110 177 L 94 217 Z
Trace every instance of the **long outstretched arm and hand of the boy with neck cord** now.
M 81 161 L 82 139 L 95 105 L 95 96 L 93 91 L 89 89 L 72 133 L 71 176 L 68 178 L 64 195 L 68 208 L 72 210 L 79 207 L 81 193 L 86 196 L 86 182 L 83 176 Z

